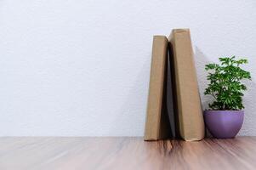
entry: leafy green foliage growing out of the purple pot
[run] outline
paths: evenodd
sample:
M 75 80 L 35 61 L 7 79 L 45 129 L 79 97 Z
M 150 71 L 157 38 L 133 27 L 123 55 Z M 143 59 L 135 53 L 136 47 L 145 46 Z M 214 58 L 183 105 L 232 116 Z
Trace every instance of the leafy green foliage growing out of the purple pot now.
M 251 80 L 249 71 L 244 71 L 240 66 L 247 64 L 247 59 L 235 59 L 235 56 L 219 58 L 220 65 L 205 65 L 208 71 L 208 88 L 205 95 L 213 96 L 213 102 L 209 104 L 212 110 L 242 110 L 242 92 L 247 87 L 242 83 L 243 79 Z

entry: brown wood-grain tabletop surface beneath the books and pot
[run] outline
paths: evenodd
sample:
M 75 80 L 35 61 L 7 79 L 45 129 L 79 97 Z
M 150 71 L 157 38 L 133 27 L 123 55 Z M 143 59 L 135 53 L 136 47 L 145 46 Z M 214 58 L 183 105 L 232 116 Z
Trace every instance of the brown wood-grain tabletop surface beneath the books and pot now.
M 141 138 L 0 138 L 0 170 L 256 169 L 256 137 L 200 142 Z

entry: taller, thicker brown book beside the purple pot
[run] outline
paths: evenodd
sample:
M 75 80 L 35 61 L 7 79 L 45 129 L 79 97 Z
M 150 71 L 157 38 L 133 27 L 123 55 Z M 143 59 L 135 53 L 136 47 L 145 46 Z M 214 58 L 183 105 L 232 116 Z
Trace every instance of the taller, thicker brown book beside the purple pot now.
M 173 53 L 179 135 L 189 141 L 201 140 L 205 130 L 190 30 L 173 30 L 169 41 Z

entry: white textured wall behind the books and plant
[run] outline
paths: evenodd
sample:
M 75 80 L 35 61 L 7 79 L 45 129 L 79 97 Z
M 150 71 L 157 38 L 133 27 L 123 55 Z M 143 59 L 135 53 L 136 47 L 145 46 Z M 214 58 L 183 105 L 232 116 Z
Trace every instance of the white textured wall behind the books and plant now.
M 143 135 L 152 36 L 179 27 L 191 28 L 201 93 L 206 63 L 249 59 L 241 134 L 256 135 L 255 8 L 254 0 L 2 0 L 0 135 Z

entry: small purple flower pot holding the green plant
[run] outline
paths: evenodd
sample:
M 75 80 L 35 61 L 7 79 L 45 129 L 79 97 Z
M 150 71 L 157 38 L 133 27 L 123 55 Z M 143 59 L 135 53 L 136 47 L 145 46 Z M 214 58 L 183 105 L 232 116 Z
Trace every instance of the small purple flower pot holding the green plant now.
M 213 137 L 234 138 L 242 127 L 243 111 L 204 111 L 204 121 Z

